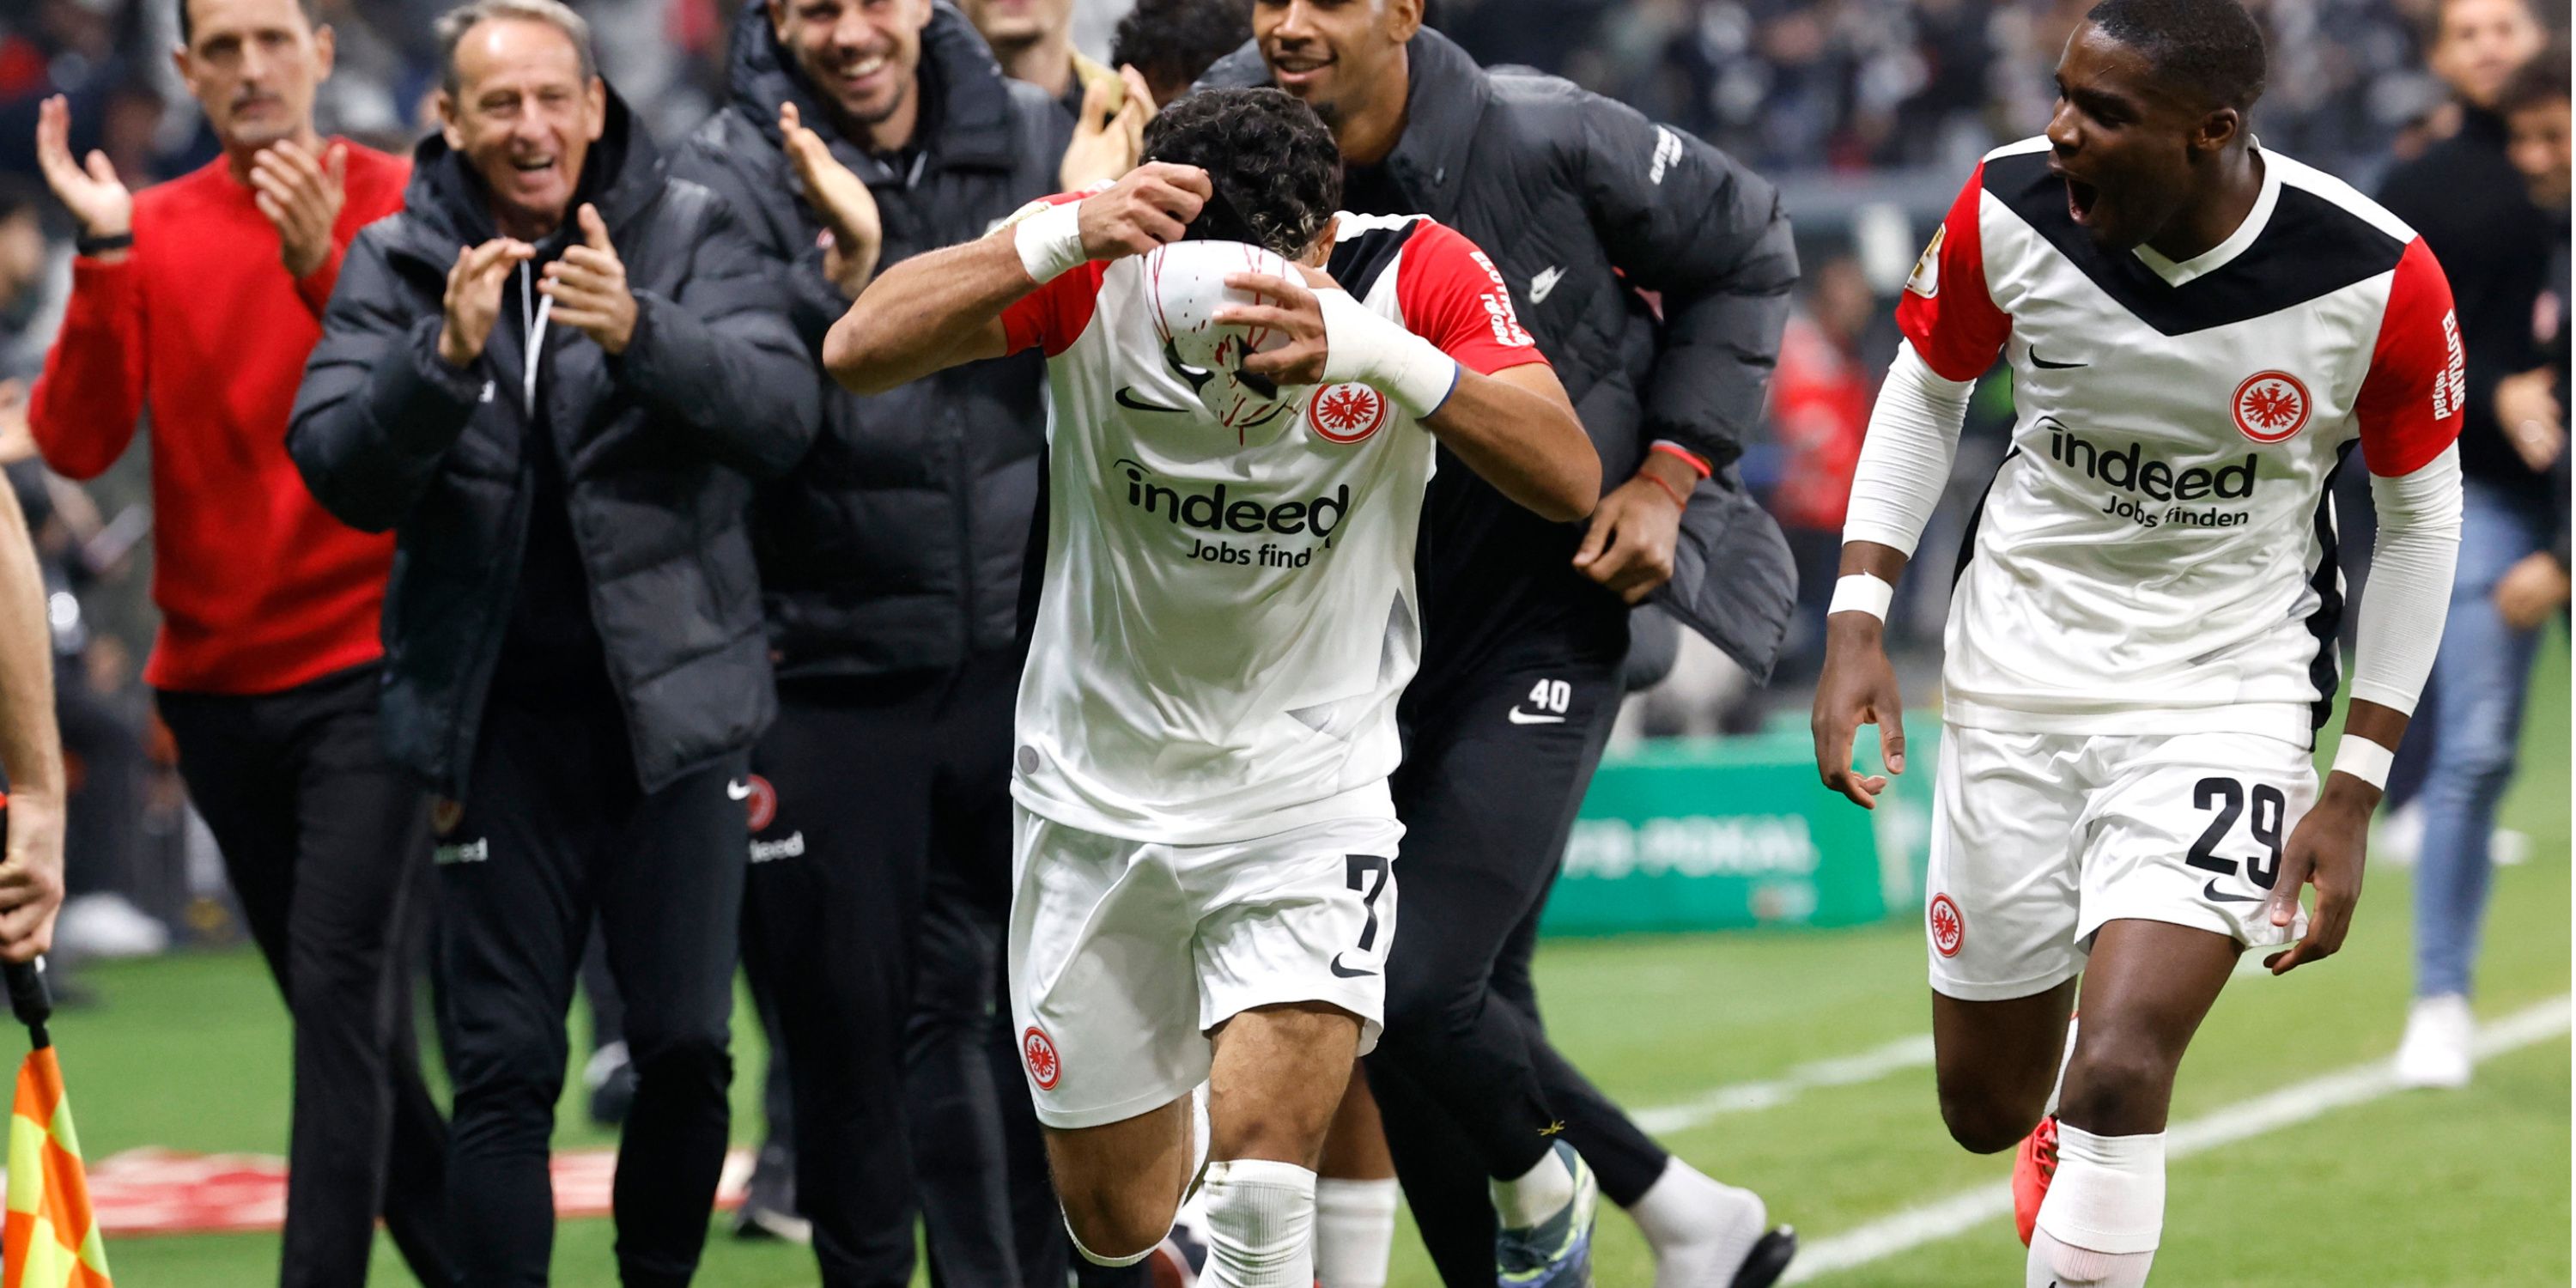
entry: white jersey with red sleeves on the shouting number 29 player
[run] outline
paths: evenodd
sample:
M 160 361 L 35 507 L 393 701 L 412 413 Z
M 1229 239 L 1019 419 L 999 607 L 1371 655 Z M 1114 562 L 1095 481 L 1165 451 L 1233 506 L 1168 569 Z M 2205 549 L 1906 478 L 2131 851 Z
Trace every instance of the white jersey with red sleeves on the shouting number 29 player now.
M 2048 139 L 1986 155 L 1899 299 L 1953 381 L 2012 363 L 2014 430 L 1955 577 L 1945 719 L 2308 742 L 2336 690 L 2329 482 L 2460 430 L 2463 348 L 2424 242 L 2259 152 L 2262 198 L 2190 263 L 2099 250 Z

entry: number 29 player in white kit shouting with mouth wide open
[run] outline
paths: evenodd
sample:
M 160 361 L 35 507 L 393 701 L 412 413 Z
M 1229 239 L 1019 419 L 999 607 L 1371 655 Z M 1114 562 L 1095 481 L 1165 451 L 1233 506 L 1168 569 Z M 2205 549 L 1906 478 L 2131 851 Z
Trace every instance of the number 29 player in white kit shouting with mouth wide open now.
M 1852 770 L 1857 724 L 1906 768 L 1888 587 L 1971 384 L 2012 363 L 2012 453 L 1950 595 L 1927 940 L 1950 1133 L 1981 1154 L 2030 1133 L 2030 1288 L 2146 1283 L 2182 1051 L 2244 948 L 2287 945 L 2264 958 L 2282 974 L 2342 945 L 2450 598 L 2450 286 L 2396 216 L 2257 144 L 2262 80 L 2236 0 L 2097 5 L 2048 134 L 1984 160 L 1906 281 L 1852 482 L 1816 768 L 1868 806 L 1886 778 Z M 2329 479 L 2354 446 L 2380 533 L 2318 791 Z

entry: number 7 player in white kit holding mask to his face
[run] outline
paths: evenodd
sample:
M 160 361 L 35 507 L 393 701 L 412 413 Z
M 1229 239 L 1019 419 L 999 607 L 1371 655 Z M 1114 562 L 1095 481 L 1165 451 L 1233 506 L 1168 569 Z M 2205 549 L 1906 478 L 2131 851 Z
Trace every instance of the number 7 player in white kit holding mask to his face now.
M 1296 98 L 1182 98 L 1146 155 L 891 268 L 824 361 L 884 389 L 1046 350 L 1010 989 L 1056 1195 L 1084 1257 L 1146 1257 L 1206 1082 L 1203 1283 L 1309 1288 L 1314 1164 L 1396 933 L 1435 440 L 1556 520 L 1592 510 L 1600 456 L 1466 237 L 1334 214 Z

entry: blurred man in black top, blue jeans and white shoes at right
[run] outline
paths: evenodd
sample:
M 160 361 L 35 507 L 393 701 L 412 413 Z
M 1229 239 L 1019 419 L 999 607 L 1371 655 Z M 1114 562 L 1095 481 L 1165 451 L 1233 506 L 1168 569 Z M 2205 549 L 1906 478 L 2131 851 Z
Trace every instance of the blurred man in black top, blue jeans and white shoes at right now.
M 2452 88 L 2460 131 L 2388 175 L 2380 201 L 2424 234 L 2458 301 L 2465 358 L 2460 471 L 2465 510 L 2450 623 L 2434 659 L 2432 760 L 2416 858 L 2416 1002 L 2398 1079 L 2460 1087 L 2470 1077 L 2470 971 L 2486 917 L 2496 804 L 2514 778 L 2537 631 L 2496 608 L 2496 585 L 2555 528 L 2550 469 L 2566 448 L 2555 374 L 2535 337 L 2543 273 L 2563 214 L 2532 204 L 2506 157 L 2506 82 L 2543 52 L 2530 0 L 2442 0 L 2432 67 Z

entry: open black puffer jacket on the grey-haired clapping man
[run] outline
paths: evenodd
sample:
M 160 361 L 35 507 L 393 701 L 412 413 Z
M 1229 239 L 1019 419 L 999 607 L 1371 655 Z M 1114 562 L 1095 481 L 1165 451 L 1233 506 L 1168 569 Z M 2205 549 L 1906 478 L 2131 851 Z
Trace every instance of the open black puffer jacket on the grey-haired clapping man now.
M 667 178 L 616 95 L 577 201 L 600 206 L 636 330 L 611 358 L 572 327 L 546 327 L 538 397 L 636 781 L 652 791 L 747 747 L 775 711 L 744 507 L 750 477 L 775 477 L 814 438 L 814 366 L 734 214 Z M 538 260 L 577 234 L 567 219 Z M 471 368 L 438 358 L 456 247 L 489 237 L 482 180 L 433 134 L 415 152 L 404 211 L 348 247 L 286 430 L 332 515 L 397 533 L 384 737 L 448 796 L 466 791 L 533 489 L 515 283 Z

